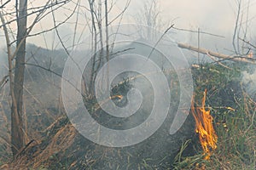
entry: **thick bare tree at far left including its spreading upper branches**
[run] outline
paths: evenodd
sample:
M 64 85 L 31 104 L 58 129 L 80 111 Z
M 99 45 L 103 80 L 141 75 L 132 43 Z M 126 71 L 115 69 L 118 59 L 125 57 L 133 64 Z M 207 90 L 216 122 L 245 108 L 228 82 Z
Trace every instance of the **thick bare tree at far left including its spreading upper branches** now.
M 25 144 L 25 130 L 23 128 L 23 84 L 24 84 L 24 70 L 25 70 L 25 56 L 26 56 L 26 38 L 39 35 L 39 33 L 31 35 L 33 27 L 38 24 L 46 15 L 49 14 L 48 9 L 56 10 L 62 5 L 70 2 L 70 0 L 62 0 L 53 3 L 48 0 L 43 6 L 28 8 L 27 0 L 16 0 L 15 11 L 6 12 L 8 3 L 1 5 L 0 18 L 2 21 L 8 54 L 9 65 L 9 88 L 11 95 L 11 149 L 14 158 L 22 150 Z M 53 7 L 55 7 L 53 9 Z M 13 17 L 15 15 L 15 17 Z M 27 18 L 32 16 L 32 24 L 27 26 Z M 6 20 L 7 19 L 7 20 Z M 16 23 L 16 37 L 11 28 L 12 24 Z M 50 28 L 47 31 L 52 30 Z M 13 42 L 10 36 L 14 38 Z M 12 53 L 12 44 L 15 43 L 15 50 Z

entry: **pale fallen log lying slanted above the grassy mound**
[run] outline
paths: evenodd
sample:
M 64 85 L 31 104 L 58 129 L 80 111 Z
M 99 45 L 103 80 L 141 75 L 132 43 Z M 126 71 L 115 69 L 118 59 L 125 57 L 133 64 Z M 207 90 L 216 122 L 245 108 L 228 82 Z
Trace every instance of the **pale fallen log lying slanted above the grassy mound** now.
M 227 54 L 220 54 L 220 53 L 212 52 L 206 48 L 197 48 L 197 47 L 194 47 L 194 46 L 191 46 L 188 44 L 183 44 L 183 43 L 177 43 L 177 47 L 189 49 L 189 50 L 195 51 L 197 53 L 201 53 L 201 54 L 211 55 L 211 56 L 217 57 L 219 59 L 233 60 L 233 61 L 239 61 L 239 62 L 256 65 L 256 59 L 252 59 L 252 58 L 249 58 L 246 56 L 237 56 L 237 55 L 233 56 L 233 55 L 227 55 Z

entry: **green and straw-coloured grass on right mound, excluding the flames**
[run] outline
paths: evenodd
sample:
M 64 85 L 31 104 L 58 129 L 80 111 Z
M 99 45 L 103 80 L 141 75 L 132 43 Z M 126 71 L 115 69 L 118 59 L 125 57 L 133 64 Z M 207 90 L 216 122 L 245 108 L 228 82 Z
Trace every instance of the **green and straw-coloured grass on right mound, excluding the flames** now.
M 212 76 L 208 77 L 210 69 L 218 71 L 218 74 L 212 73 Z M 223 71 L 218 66 L 207 65 L 206 71 L 195 71 L 198 73 L 195 82 L 200 82 L 198 84 L 201 85 L 197 89 L 207 87 L 211 92 L 207 103 L 214 116 L 214 127 L 218 135 L 217 150 L 209 160 L 203 159 L 199 147 L 195 156 L 183 156 L 185 149 L 180 150 L 180 158 L 173 165 L 175 169 L 254 170 L 256 168 L 256 102 L 243 90 L 240 83 L 241 75 L 235 69 L 233 67 L 230 72 Z M 232 93 L 229 95 L 233 98 L 231 99 L 233 102 L 228 101 L 227 96 L 219 96 L 223 94 L 221 89 L 227 92 L 229 88 L 234 88 L 234 83 L 240 88 L 240 92 L 237 89 L 230 91 Z M 223 98 L 225 99 L 222 100 Z

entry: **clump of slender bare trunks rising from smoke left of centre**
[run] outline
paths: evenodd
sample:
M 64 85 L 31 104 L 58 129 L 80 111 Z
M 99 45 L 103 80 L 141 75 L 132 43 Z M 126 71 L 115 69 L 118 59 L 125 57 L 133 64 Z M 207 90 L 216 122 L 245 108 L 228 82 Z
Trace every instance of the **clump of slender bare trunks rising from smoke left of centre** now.
M 89 83 L 85 86 L 85 94 L 87 96 L 92 96 L 94 91 L 94 82 L 96 80 L 96 73 L 101 68 L 102 64 L 107 62 L 111 55 L 111 45 L 109 44 L 109 35 L 108 35 L 108 27 L 113 24 L 116 20 L 122 20 L 122 16 L 125 13 L 125 10 L 128 8 L 130 4 L 130 0 L 128 0 L 125 4 L 125 7 L 119 14 L 113 17 L 113 20 L 110 19 L 109 15 L 113 10 L 114 2 L 104 0 L 102 1 L 95 1 L 95 0 L 88 0 L 89 4 L 89 12 L 90 18 L 89 20 L 89 27 L 90 27 L 90 37 L 91 37 L 91 68 L 90 68 L 90 79 Z M 120 22 L 120 21 L 119 21 Z M 105 45 L 104 45 L 105 44 Z M 108 77 L 108 70 L 106 72 Z M 109 84 L 108 79 L 106 80 L 107 86 Z

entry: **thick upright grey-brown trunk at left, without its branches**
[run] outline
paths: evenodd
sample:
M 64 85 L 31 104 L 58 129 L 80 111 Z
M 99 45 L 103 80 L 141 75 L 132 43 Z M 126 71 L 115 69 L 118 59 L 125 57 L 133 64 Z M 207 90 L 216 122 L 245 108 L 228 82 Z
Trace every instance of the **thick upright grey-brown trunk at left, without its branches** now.
M 16 5 L 18 5 L 16 3 Z M 16 7 L 18 8 L 18 7 Z M 23 83 L 24 83 L 24 68 L 26 54 L 26 9 L 27 0 L 20 0 L 19 9 L 17 12 L 17 54 L 15 58 L 15 78 L 14 78 L 14 94 L 11 108 L 11 142 L 12 152 L 15 156 L 18 151 L 24 146 L 23 132 Z M 16 103 L 16 104 L 15 104 Z

